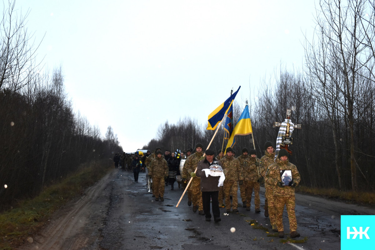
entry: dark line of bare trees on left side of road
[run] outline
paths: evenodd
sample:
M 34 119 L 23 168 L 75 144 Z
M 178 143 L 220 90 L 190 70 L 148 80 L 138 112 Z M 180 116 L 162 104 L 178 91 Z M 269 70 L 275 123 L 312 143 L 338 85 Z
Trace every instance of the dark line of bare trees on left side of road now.
M 25 16 L 9 2 L 0 20 L 0 210 L 77 171 L 82 163 L 122 152 L 117 135 L 75 114 L 62 68 L 40 73 L 38 45 Z

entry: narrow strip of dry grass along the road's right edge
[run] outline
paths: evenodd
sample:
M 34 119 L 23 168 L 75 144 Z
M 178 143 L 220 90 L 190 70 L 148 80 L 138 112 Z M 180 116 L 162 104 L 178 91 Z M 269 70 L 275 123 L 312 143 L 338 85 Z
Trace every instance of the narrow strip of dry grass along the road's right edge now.
M 337 189 L 317 189 L 309 187 L 296 187 L 297 193 L 306 195 L 318 195 L 326 198 L 338 199 L 340 201 L 347 201 L 359 205 L 374 206 L 375 193 L 374 192 L 352 192 L 340 191 Z

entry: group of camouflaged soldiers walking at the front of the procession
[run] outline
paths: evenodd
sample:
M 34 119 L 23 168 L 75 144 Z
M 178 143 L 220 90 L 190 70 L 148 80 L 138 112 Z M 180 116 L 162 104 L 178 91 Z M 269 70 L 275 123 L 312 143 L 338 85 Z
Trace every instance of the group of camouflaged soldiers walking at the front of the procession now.
M 153 154 L 148 153 L 144 159 L 145 166 L 148 169 L 148 177 L 152 178 L 153 196 L 155 201 L 163 201 L 165 178 L 168 177 L 168 163 L 165 157 L 156 148 Z M 190 152 L 193 152 L 190 155 Z M 195 145 L 194 150 L 189 150 L 186 154 L 186 160 L 183 163 L 183 170 L 180 173 L 182 177 L 182 186 L 186 187 L 186 183 L 190 178 L 192 181 L 187 189 L 187 205 L 192 207 L 193 212 L 205 215 L 202 205 L 201 178 L 195 175 L 198 162 L 205 158 L 203 146 L 201 143 Z M 275 149 L 272 142 L 267 141 L 264 144 L 264 156 L 257 158 L 257 152 L 254 149 L 242 149 L 239 157 L 234 156 L 232 148 L 226 148 L 226 153 L 219 150 L 217 156 L 220 161 L 225 175 L 223 186 L 219 190 L 220 207 L 225 207 L 226 212 L 239 213 L 237 192 L 240 187 L 240 197 L 242 199 L 242 207 L 250 211 L 251 199 L 254 190 L 255 213 L 260 213 L 260 185 L 265 186 L 265 205 L 264 216 L 269 217 L 272 230 L 278 232 L 280 238 L 284 237 L 284 226 L 282 223 L 282 215 L 284 207 L 287 207 L 288 218 L 290 222 L 290 237 L 300 237 L 297 232 L 297 221 L 295 215 L 295 197 L 294 187 L 301 180 L 299 172 L 295 165 L 289 162 L 288 153 L 285 149 L 281 149 L 275 159 Z M 287 172 L 291 176 L 285 181 L 284 175 Z M 284 174 L 285 173 L 285 174 Z

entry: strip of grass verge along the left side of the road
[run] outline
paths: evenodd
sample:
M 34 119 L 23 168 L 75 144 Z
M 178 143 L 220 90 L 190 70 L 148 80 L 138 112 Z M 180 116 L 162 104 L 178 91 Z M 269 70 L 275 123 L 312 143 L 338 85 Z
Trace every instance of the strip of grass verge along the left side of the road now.
M 66 202 L 100 180 L 113 167 L 112 162 L 91 162 L 60 183 L 45 187 L 36 198 L 20 201 L 17 208 L 0 214 L 0 249 L 12 249 L 26 242 Z

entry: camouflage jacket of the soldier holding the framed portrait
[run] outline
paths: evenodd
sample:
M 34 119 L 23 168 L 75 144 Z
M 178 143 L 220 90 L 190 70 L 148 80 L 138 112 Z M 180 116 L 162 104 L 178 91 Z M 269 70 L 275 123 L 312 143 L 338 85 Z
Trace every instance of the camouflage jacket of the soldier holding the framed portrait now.
M 264 178 L 264 181 L 272 186 L 273 189 L 273 195 L 276 196 L 285 196 L 290 197 L 294 196 L 294 187 L 287 186 L 287 187 L 278 187 L 277 183 L 281 181 L 280 171 L 281 170 L 291 170 L 292 172 L 292 181 L 295 181 L 297 184 L 300 183 L 301 177 L 300 173 L 297 170 L 297 167 L 290 163 L 289 160 L 286 160 L 283 162 L 279 158 L 276 159 L 276 162 L 273 163 L 271 166 L 269 166 L 269 171 L 266 175 L 266 178 Z

